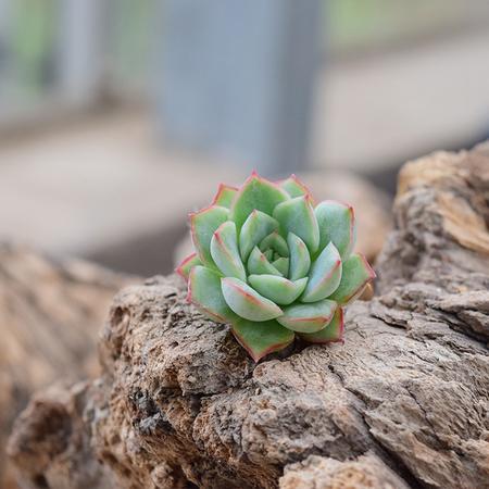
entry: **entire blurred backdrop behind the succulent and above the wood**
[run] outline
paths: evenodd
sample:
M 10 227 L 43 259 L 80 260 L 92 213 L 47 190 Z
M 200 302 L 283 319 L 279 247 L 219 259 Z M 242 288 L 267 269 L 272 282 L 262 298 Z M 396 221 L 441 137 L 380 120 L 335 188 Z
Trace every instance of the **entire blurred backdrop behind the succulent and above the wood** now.
M 53 256 L 167 273 L 220 181 L 387 209 L 488 136 L 487 0 L 0 0 L 0 240 Z

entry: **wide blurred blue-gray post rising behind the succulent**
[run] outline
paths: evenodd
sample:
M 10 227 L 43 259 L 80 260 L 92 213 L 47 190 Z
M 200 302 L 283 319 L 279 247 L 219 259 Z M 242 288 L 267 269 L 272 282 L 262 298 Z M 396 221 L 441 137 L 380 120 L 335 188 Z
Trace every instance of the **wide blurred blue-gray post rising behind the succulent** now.
M 166 0 L 156 95 L 167 142 L 263 174 L 308 161 L 318 0 Z

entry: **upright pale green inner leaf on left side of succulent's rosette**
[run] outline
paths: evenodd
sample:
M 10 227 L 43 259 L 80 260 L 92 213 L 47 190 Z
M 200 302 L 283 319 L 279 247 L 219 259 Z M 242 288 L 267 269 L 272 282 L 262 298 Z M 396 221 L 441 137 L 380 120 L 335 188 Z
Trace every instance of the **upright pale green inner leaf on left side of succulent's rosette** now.
M 223 223 L 214 233 L 211 239 L 211 255 L 224 276 L 247 279 L 247 272 L 238 250 L 236 224 L 231 221 Z

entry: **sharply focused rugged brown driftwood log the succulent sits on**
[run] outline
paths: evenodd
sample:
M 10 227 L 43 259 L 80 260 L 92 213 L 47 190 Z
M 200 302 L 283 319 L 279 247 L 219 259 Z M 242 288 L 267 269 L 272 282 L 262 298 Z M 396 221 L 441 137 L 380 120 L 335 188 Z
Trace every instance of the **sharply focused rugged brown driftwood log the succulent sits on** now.
M 344 344 L 258 365 L 177 277 L 125 289 L 101 376 L 17 419 L 23 484 L 488 488 L 488 147 L 408 163 L 376 296 L 349 309 Z

